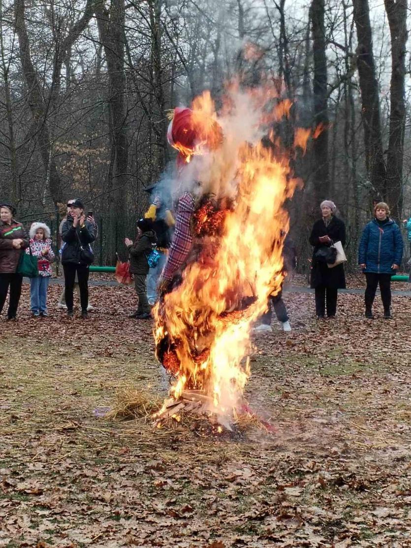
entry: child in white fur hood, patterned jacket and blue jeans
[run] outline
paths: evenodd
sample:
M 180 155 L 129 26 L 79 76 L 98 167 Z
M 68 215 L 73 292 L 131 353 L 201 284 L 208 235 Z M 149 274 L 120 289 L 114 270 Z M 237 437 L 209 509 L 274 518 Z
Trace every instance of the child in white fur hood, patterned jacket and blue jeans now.
M 33 222 L 30 227 L 31 253 L 37 257 L 38 277 L 30 279 L 30 306 L 33 317 L 47 316 L 47 290 L 54 260 L 50 229 L 44 222 Z M 26 249 L 26 253 L 30 253 Z

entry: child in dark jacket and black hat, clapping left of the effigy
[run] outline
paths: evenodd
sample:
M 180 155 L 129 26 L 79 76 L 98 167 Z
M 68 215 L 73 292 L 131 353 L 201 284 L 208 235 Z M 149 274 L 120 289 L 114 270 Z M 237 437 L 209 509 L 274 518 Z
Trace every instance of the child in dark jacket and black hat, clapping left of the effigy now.
M 147 319 L 150 318 L 150 305 L 147 299 L 147 256 L 157 243 L 157 236 L 151 219 L 138 220 L 137 230 L 138 235 L 134 243 L 129 238 L 124 240 L 130 253 L 130 272 L 134 275 L 135 292 L 139 298 L 138 308 L 130 318 Z

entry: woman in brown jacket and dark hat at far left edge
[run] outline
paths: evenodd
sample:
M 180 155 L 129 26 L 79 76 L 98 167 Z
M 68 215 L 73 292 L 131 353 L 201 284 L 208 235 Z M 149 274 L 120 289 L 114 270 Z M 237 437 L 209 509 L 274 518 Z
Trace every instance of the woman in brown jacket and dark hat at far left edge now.
M 17 272 L 21 250 L 28 247 L 22 224 L 14 219 L 15 209 L 0 203 L 0 313 L 10 287 L 7 319 L 16 319 L 23 277 Z

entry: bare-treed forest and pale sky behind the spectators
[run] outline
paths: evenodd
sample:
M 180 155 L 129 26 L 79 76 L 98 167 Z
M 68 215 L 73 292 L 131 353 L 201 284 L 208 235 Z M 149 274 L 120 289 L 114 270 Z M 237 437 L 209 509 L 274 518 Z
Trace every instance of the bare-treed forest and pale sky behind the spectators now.
M 295 127 L 327 128 L 295 158 L 304 188 L 290 231 L 305 270 L 319 202 L 333 199 L 353 268 L 373 199 L 397 221 L 410 212 L 408 11 L 407 0 L 0 0 L 0 197 L 54 235 L 81 197 L 100 226 L 98 262 L 112 263 L 173 160 L 166 111 L 204 89 L 218 104 L 240 75 L 293 101 L 275 128 L 286 144 Z

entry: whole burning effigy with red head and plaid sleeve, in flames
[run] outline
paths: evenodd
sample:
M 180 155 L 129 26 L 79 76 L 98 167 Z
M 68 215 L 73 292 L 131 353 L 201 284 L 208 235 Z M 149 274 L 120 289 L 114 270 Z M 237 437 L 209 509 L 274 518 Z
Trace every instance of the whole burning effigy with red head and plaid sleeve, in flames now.
M 172 386 L 158 424 L 189 410 L 230 429 L 247 409 L 250 331 L 283 281 L 284 202 L 299 183 L 272 129 L 289 107 L 273 90 L 234 86 L 218 112 L 209 93 L 173 112 L 176 230 L 154 309 Z

